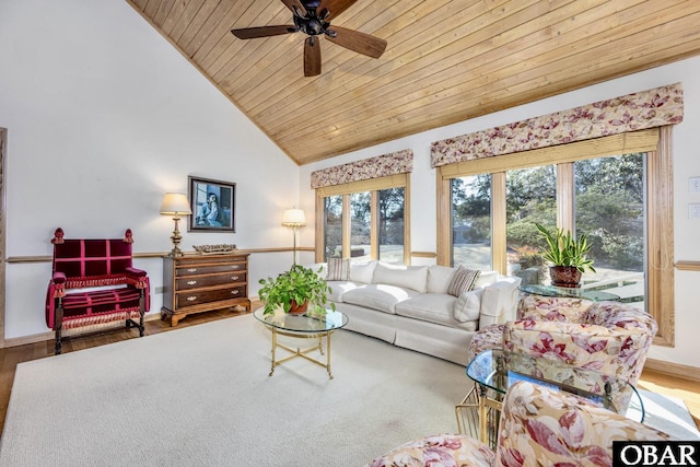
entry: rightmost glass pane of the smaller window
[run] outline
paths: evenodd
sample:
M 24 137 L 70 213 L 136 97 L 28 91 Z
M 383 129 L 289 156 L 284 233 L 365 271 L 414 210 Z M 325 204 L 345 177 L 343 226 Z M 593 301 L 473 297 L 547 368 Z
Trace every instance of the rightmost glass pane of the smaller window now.
M 404 200 L 405 189 L 378 191 L 380 258 L 385 262 L 404 264 Z

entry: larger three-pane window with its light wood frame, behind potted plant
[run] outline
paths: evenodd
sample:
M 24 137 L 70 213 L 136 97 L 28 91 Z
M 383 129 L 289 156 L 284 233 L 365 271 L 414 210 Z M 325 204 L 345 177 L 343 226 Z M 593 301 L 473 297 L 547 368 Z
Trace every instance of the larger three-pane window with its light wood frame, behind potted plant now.
M 668 138 L 666 128 L 644 130 L 633 141 L 621 135 L 440 167 L 439 262 L 549 283 L 535 223 L 585 234 L 596 272 L 582 287 L 646 310 L 660 324 L 655 343 L 673 345 Z

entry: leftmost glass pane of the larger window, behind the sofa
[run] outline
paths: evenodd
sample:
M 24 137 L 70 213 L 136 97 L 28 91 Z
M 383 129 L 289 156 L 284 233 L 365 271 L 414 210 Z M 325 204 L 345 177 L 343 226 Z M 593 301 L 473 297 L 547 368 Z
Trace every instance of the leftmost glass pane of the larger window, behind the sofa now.
M 491 270 L 491 175 L 453 178 L 452 265 Z

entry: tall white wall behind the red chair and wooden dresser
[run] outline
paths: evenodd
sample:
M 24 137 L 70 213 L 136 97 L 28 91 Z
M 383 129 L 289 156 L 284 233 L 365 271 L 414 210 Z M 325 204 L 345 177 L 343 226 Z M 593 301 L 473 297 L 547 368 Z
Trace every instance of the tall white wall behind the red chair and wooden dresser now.
M 8 128 L 5 257 L 51 254 L 67 237 L 119 237 L 167 252 L 163 194 L 187 176 L 236 184 L 236 233 L 188 233 L 183 249 L 291 247 L 280 225 L 299 167 L 125 1 L 0 2 L 0 127 Z M 257 279 L 291 253 L 252 257 Z M 162 260 L 138 259 L 162 285 Z M 50 264 L 8 264 L 5 338 L 46 332 Z M 152 294 L 158 314 L 162 295 Z

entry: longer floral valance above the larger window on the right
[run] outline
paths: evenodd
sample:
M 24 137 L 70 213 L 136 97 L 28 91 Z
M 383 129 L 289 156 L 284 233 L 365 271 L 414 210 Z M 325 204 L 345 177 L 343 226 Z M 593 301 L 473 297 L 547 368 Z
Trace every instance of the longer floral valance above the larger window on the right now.
M 682 86 L 669 84 L 431 144 L 431 166 L 682 121 Z

